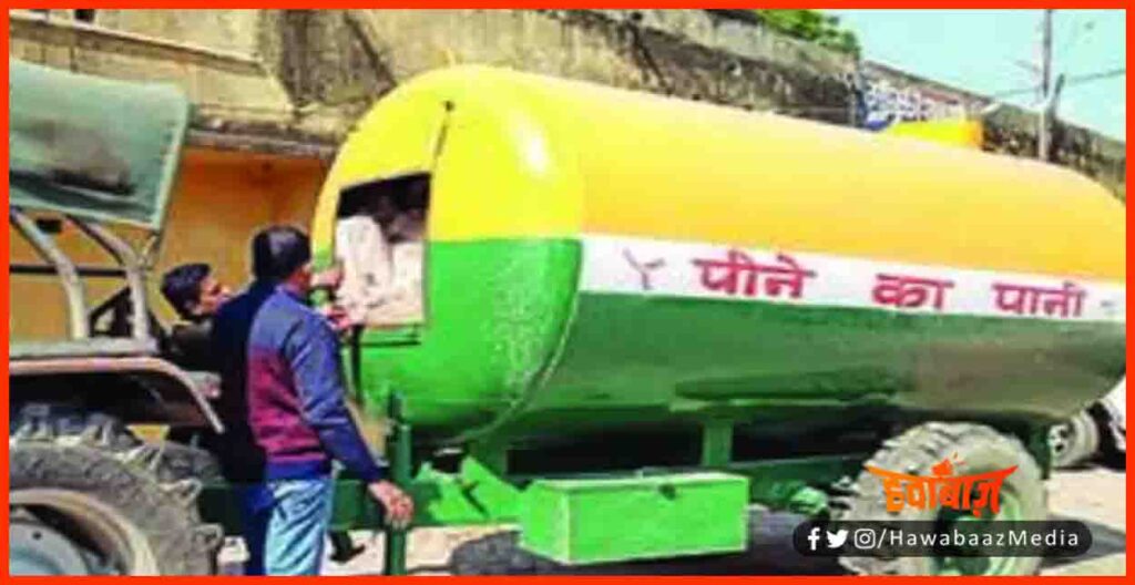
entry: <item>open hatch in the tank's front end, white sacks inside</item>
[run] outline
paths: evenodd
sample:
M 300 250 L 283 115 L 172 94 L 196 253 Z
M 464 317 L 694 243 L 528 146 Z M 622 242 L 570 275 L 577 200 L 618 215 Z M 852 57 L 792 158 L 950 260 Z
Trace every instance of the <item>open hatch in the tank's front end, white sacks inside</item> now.
M 336 298 L 365 329 L 424 323 L 424 244 L 430 176 L 404 175 L 343 189 L 335 257 Z

